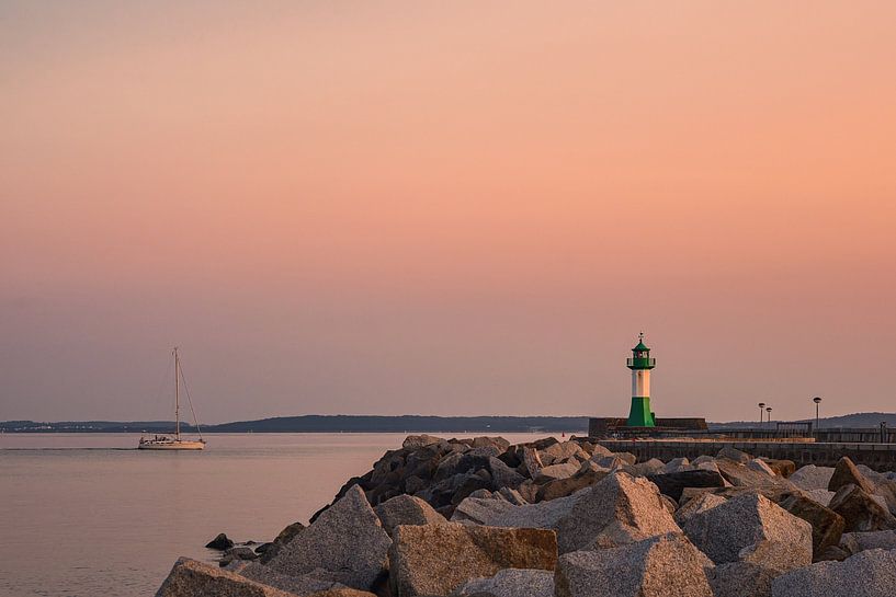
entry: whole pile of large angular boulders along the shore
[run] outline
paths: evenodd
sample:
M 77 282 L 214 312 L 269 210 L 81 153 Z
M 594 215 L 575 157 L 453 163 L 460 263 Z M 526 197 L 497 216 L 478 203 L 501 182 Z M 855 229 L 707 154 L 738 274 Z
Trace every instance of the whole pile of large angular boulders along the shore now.
M 583 440 L 409 436 L 305 527 L 157 597 L 896 595 L 896 482 L 716 456 L 637 462 Z

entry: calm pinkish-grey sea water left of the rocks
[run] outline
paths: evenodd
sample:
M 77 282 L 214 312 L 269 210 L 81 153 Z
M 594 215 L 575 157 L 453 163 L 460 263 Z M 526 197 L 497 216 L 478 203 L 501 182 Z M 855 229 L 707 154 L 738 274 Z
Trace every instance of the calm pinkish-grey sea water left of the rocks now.
M 0 434 L 0 596 L 151 596 L 178 555 L 212 561 L 218 532 L 307 523 L 405 435 L 215 434 L 203 452 L 138 437 Z

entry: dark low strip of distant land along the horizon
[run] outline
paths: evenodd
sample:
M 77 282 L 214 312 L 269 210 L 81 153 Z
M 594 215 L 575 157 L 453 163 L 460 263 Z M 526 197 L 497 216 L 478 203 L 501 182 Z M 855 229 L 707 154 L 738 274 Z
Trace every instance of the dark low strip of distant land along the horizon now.
M 809 421 L 809 420 L 802 420 Z M 763 423 L 763 425 L 776 422 Z M 821 427 L 896 425 L 896 413 L 853 413 L 820 418 Z M 756 421 L 710 423 L 711 429 L 756 427 Z M 170 433 L 173 421 L 3 421 L 0 433 Z M 578 433 L 587 416 L 302 415 L 201 425 L 204 433 Z M 194 433 L 181 423 L 181 430 Z

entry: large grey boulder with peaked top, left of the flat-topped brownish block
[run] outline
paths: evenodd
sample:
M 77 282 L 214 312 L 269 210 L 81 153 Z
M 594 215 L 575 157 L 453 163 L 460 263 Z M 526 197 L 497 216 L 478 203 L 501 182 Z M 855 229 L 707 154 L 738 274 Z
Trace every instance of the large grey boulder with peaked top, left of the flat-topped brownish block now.
M 268 565 L 293 576 L 316 569 L 338 572 L 342 584 L 366 590 L 383 574 L 390 543 L 364 492 L 355 485 Z

